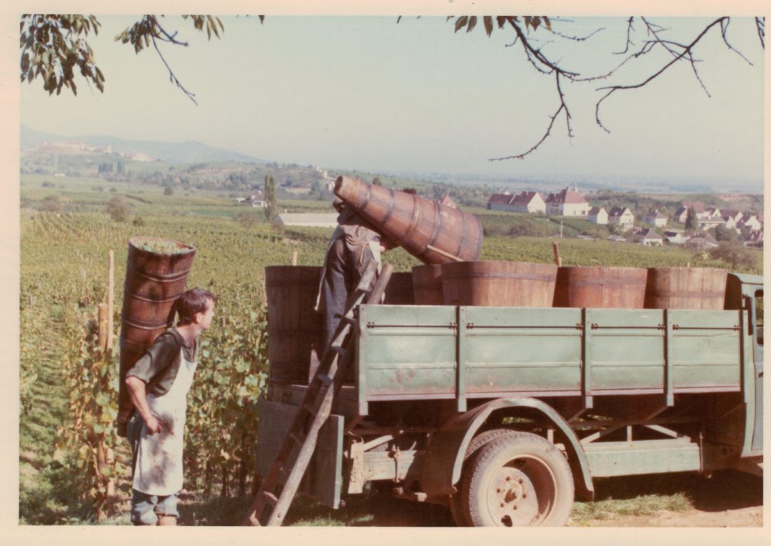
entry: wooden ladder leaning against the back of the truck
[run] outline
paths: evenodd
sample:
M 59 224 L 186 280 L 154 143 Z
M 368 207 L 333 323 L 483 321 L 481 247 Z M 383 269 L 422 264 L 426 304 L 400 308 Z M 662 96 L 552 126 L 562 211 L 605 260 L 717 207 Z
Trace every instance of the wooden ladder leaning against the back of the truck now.
M 325 351 L 318 365 L 318 371 L 305 391 L 305 396 L 284 437 L 281 449 L 273 460 L 268 474 L 264 476 L 260 490 L 254 496 L 244 525 L 260 526 L 266 507 L 268 508 L 267 525 L 281 525 L 281 521 L 284 520 L 300 486 L 302 476 L 308 468 L 308 463 L 311 462 L 318 432 L 332 413 L 333 400 L 342 386 L 345 371 L 353 360 L 355 344 L 353 336 L 349 334 L 355 324 L 354 310 L 362 303 L 379 303 L 392 270 L 393 267 L 389 263 L 384 264 L 377 282 L 371 289 L 377 264 L 369 263 L 362 274 L 359 286 L 348 299 L 345 316 L 335 331 L 332 344 Z M 300 446 L 299 453 L 294 463 L 290 463 L 289 459 L 295 446 Z M 283 487 L 281 480 L 285 480 Z

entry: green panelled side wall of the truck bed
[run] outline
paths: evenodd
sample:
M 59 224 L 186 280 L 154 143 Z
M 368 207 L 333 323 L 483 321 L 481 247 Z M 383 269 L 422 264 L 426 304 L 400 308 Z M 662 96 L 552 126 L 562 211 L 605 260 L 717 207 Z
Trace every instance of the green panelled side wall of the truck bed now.
M 739 310 L 362 305 L 354 385 L 369 402 L 738 392 Z M 739 350 L 737 350 L 739 349 Z

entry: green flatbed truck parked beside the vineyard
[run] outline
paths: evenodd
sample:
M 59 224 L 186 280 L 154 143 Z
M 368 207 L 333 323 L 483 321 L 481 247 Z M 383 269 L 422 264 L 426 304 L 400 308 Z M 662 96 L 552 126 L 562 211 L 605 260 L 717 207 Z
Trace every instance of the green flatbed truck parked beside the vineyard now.
M 562 525 L 594 478 L 763 472 L 763 277 L 725 310 L 362 305 L 356 354 L 301 491 L 365 483 L 459 525 Z M 259 405 L 258 473 L 307 385 Z

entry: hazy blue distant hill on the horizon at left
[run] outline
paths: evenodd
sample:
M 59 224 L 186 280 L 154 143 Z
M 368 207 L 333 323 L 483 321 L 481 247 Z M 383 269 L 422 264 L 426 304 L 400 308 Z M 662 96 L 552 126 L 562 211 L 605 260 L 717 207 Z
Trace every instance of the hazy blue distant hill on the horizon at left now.
M 266 163 L 258 158 L 253 158 L 236 151 L 210 148 L 206 144 L 196 141 L 184 142 L 158 142 L 158 141 L 126 141 L 122 138 L 109 135 L 91 135 L 85 137 L 66 137 L 56 134 L 45 134 L 22 125 L 21 148 L 35 148 L 39 144 L 48 142 L 82 142 L 103 148 L 110 146 L 113 153 L 146 154 L 151 158 L 160 159 L 171 163 L 197 163 L 207 161 L 235 161 L 238 163 Z

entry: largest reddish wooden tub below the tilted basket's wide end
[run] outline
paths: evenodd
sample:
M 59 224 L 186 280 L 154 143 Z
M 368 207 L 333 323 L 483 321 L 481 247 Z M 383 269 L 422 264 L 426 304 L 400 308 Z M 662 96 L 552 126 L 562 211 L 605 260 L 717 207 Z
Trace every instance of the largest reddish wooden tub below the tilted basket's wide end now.
M 551 307 L 557 266 L 526 262 L 442 264 L 446 305 Z

